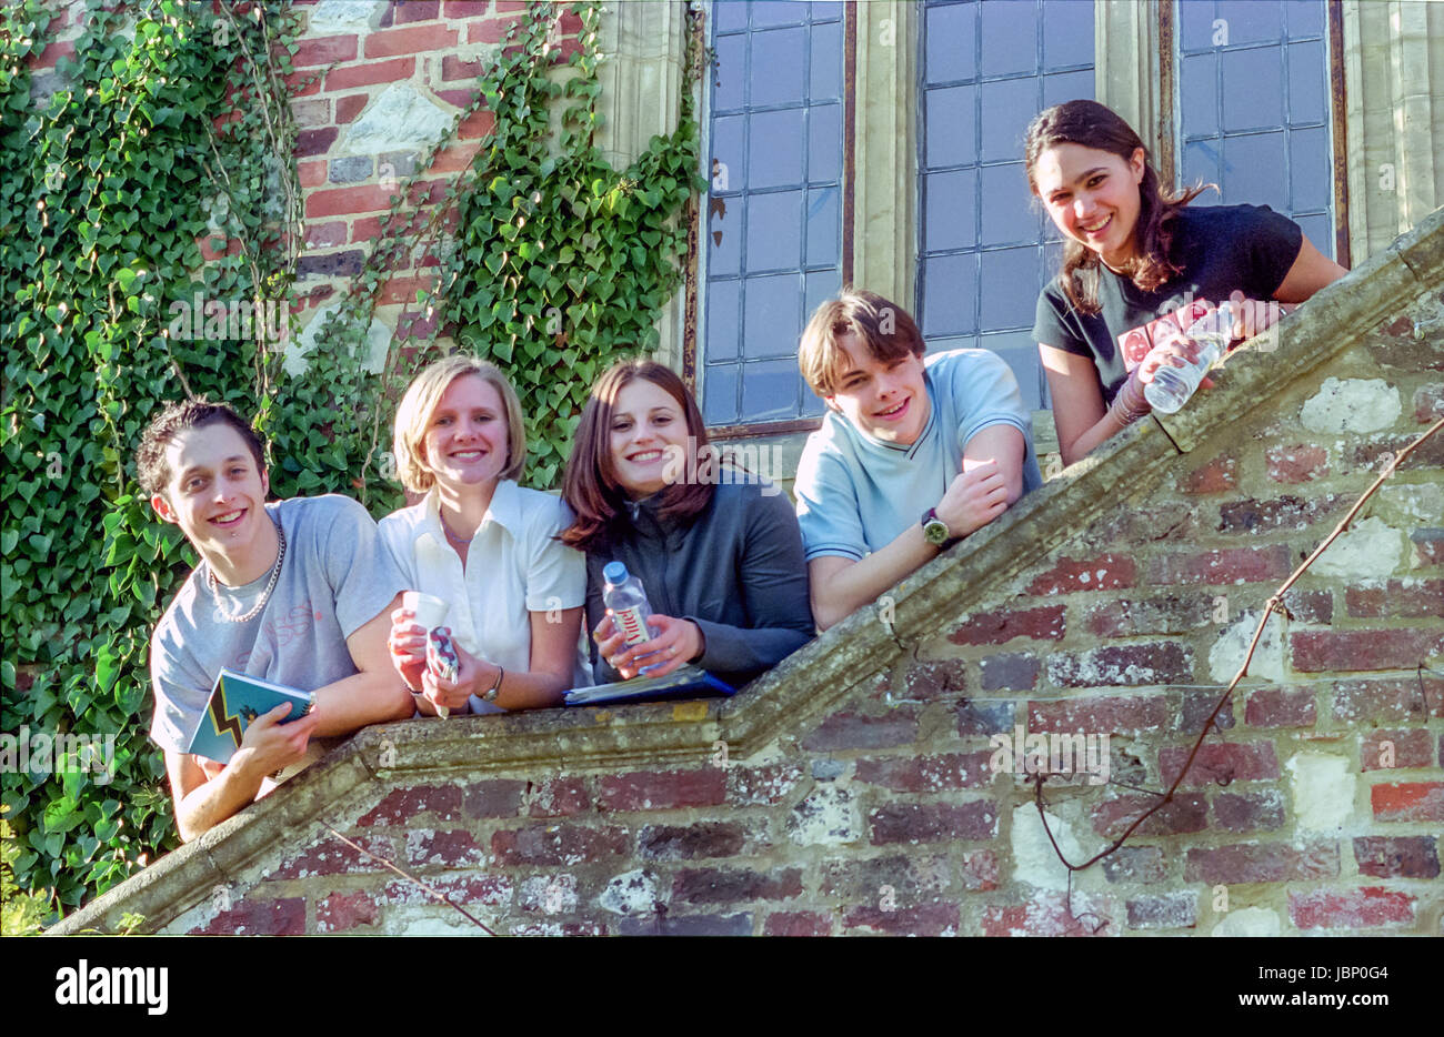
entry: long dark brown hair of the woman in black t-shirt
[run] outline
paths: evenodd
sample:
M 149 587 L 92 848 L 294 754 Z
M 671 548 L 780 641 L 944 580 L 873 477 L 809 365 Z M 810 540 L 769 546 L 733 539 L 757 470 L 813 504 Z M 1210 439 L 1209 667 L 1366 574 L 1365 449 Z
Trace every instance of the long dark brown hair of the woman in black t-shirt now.
M 1134 152 L 1144 149 L 1144 179 L 1138 185 L 1138 222 L 1134 225 L 1134 247 L 1139 266 L 1134 270 L 1134 283 L 1145 292 L 1154 292 L 1171 277 L 1183 273 L 1173 257 L 1174 218 L 1178 211 L 1204 191 L 1196 185 L 1183 191 L 1164 191 L 1154 170 L 1152 159 L 1144 142 L 1126 121 L 1108 105 L 1097 101 L 1064 101 L 1047 108 L 1028 124 L 1024 143 L 1024 157 L 1028 163 L 1028 186 L 1038 194 L 1035 170 L 1038 157 L 1057 144 L 1082 144 L 1100 152 L 1118 155 L 1129 162 Z M 1097 313 L 1097 279 L 1102 259 L 1080 241 L 1067 240 L 1063 250 L 1063 269 L 1058 283 L 1074 308 L 1084 313 Z

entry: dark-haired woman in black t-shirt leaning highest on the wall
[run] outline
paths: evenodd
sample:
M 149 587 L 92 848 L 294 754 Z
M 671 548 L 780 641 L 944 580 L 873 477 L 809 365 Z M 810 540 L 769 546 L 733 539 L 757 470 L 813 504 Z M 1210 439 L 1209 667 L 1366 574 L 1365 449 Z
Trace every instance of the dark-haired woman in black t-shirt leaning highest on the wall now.
M 1304 302 L 1346 273 L 1266 205 L 1188 208 L 1201 186 L 1165 192 L 1144 142 L 1096 101 L 1043 111 L 1025 157 L 1067 241 L 1032 328 L 1064 464 L 1149 412 L 1144 386 L 1160 364 L 1194 358 L 1177 332 L 1196 303 L 1230 306 L 1236 338 L 1249 338 L 1278 319 L 1268 300 Z

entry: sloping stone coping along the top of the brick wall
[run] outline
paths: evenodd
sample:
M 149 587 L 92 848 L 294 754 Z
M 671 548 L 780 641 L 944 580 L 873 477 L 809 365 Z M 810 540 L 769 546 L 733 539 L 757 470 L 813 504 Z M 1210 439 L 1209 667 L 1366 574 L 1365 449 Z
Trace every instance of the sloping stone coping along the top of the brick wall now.
M 1147 498 L 1180 454 L 1214 449 L 1240 415 L 1276 399 L 1430 290 L 1444 285 L 1444 209 L 1324 289 L 1227 363 L 1225 384 L 1165 419 L 1139 422 L 1070 467 L 866 607 L 804 646 L 736 698 L 622 708 L 547 709 L 446 724 L 370 726 L 271 796 L 105 893 L 51 933 L 111 932 L 121 913 L 147 930 L 192 907 L 276 843 L 309 838 L 315 822 L 361 786 L 394 774 L 608 771 L 705 761 L 718 741 L 742 760 L 832 709 L 864 674 L 936 634 L 959 607 L 1021 589 L 1040 559 L 1128 500 Z M 1025 544 L 1025 550 L 1019 550 Z

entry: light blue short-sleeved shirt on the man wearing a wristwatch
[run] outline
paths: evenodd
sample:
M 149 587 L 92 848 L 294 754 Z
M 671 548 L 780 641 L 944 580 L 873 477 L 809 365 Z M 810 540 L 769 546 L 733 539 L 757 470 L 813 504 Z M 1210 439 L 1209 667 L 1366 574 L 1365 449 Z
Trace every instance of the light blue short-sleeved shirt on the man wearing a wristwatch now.
M 1022 491 L 1043 485 L 1032 416 L 1002 357 L 953 350 L 924 357 L 923 364 L 931 406 L 911 446 L 875 439 L 833 410 L 807 438 L 794 491 L 809 562 L 823 555 L 858 560 L 917 526 L 963 471 L 967 441 L 989 425 L 1022 433 Z

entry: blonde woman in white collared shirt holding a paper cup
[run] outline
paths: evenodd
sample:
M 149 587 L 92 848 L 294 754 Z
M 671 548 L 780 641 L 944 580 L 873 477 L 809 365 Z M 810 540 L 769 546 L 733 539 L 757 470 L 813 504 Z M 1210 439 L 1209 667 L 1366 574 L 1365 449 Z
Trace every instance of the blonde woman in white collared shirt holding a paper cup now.
M 557 497 L 524 490 L 527 443 L 516 390 L 492 364 L 439 360 L 396 412 L 397 472 L 414 506 L 380 523 L 407 586 L 451 605 L 455 682 L 426 670 L 426 631 L 391 614 L 391 663 L 416 708 L 495 713 L 562 703 L 591 683 L 578 653 L 586 566 L 556 534 L 570 524 Z

